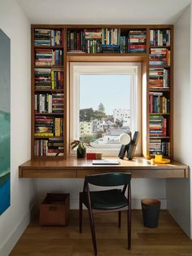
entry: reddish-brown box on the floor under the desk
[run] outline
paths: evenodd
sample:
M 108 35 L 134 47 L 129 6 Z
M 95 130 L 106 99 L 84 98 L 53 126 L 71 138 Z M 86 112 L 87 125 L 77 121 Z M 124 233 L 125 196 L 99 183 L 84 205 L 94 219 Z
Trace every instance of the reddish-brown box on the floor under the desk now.
M 40 205 L 39 224 L 64 226 L 68 223 L 69 194 L 47 193 Z

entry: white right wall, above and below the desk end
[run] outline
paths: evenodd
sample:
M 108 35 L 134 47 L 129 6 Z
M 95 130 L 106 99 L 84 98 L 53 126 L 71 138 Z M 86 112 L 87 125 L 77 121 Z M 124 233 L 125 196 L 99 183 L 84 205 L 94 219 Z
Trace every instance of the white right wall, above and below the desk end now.
M 174 52 L 174 158 L 192 166 L 191 135 L 191 15 L 190 6 L 175 24 Z M 167 181 L 168 210 L 190 236 L 190 179 Z

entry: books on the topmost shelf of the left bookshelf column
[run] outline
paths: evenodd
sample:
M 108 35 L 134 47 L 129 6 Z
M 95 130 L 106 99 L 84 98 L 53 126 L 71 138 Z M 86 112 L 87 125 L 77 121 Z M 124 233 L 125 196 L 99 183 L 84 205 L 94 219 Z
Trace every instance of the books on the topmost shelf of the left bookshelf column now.
M 35 29 L 35 46 L 62 46 L 62 32 L 59 29 Z

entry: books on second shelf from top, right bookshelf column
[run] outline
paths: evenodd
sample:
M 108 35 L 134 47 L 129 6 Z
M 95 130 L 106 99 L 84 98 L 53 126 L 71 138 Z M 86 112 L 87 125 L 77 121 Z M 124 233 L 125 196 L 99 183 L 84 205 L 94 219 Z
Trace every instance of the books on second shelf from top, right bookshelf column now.
M 167 48 L 151 48 L 150 65 L 170 65 L 170 51 Z

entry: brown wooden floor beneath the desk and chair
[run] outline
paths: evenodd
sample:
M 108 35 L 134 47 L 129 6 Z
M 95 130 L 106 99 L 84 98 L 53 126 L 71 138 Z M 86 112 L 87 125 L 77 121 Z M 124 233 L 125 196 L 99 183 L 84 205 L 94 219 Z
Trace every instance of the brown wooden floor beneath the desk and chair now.
M 125 255 L 192 255 L 192 241 L 182 232 L 167 211 L 160 212 L 159 227 L 147 228 L 142 225 L 142 211 L 133 210 L 132 248 L 127 250 L 126 216 L 122 216 L 122 227 L 117 227 L 117 215 L 95 215 L 98 256 Z M 83 218 L 83 232 L 78 232 L 78 211 L 70 212 L 66 227 L 40 227 L 34 220 L 11 256 L 89 256 L 93 255 L 87 212 Z

